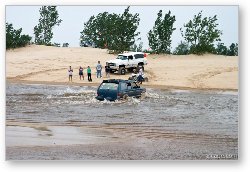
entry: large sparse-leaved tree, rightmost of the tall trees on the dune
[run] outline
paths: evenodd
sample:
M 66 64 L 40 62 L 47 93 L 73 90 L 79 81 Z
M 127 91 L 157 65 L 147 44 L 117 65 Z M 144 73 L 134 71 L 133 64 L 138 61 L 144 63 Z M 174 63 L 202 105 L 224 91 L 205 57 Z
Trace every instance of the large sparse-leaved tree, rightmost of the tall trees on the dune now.
M 185 41 L 190 44 L 190 53 L 204 54 L 214 53 L 214 43 L 220 41 L 222 31 L 219 30 L 217 16 L 202 17 L 202 11 L 195 15 L 193 20 L 184 24 L 184 31 L 181 34 Z

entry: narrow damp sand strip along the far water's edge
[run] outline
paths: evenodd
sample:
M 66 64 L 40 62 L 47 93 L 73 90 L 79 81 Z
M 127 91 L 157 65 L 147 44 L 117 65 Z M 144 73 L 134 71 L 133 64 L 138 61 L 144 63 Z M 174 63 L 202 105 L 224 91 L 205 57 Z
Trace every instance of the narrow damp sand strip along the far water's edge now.
M 69 85 L 69 86 L 99 86 L 100 83 L 78 83 L 78 82 L 54 82 L 54 81 L 28 81 L 28 80 L 16 80 L 6 78 L 6 84 L 40 84 L 40 85 Z M 142 84 L 145 88 L 154 88 L 160 90 L 186 90 L 186 91 L 232 91 L 238 92 L 238 89 L 229 89 L 229 88 L 192 88 L 192 87 L 183 87 L 183 86 L 174 86 L 174 85 L 150 85 Z

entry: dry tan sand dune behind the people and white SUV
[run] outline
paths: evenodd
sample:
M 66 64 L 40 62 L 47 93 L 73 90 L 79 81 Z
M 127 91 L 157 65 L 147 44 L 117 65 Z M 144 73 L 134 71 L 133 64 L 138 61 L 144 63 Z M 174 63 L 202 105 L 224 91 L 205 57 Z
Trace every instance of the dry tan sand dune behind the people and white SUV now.
M 92 68 L 93 84 L 102 79 L 95 77 L 95 66 L 116 56 L 104 49 L 63 48 L 31 45 L 6 52 L 6 77 L 13 82 L 59 83 L 68 82 L 67 69 L 74 69 L 73 83 L 88 83 L 86 67 Z M 182 89 L 238 89 L 238 57 L 218 55 L 149 55 L 145 73 L 149 82 L 144 85 Z M 80 81 L 79 66 L 83 66 L 85 80 Z M 103 71 L 104 72 L 104 71 Z M 111 78 L 128 79 L 130 74 L 112 74 Z M 104 77 L 105 78 L 105 77 Z

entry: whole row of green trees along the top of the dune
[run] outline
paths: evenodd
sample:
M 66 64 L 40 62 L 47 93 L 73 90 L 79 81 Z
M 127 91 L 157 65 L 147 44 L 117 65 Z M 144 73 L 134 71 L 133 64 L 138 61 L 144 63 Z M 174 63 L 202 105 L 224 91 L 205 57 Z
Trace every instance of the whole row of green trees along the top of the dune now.
M 152 29 L 149 30 L 147 38 L 149 50 L 142 50 L 143 43 L 139 45 L 140 32 L 137 31 L 140 23 L 139 14 L 130 13 L 128 6 L 122 14 L 103 12 L 91 16 L 84 23 L 80 32 L 80 46 L 92 46 L 105 48 L 110 53 L 123 51 L 144 51 L 156 54 L 204 54 L 213 53 L 220 55 L 238 55 L 238 44 L 232 43 L 226 47 L 221 42 L 221 30 L 218 29 L 217 16 L 203 17 L 202 11 L 184 23 L 180 28 L 183 41 L 171 52 L 172 34 L 176 30 L 174 23 L 175 15 L 171 11 L 164 14 L 160 10 Z M 51 43 L 53 38 L 52 29 L 62 22 L 59 19 L 56 6 L 43 6 L 39 10 L 39 23 L 34 27 L 35 44 L 60 46 L 58 43 Z M 6 23 L 6 48 L 16 48 L 27 45 L 31 37 L 21 35 L 22 29 L 15 30 L 12 24 Z M 217 45 L 215 45 L 217 43 Z M 68 46 L 68 43 L 64 45 Z

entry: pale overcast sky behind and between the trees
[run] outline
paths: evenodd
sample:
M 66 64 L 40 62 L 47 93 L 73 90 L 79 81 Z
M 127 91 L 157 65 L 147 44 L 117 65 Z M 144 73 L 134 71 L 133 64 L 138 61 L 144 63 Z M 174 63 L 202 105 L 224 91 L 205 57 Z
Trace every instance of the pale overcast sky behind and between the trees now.
M 6 6 L 6 22 L 12 23 L 15 29 L 22 28 L 23 34 L 29 34 L 34 38 L 33 28 L 38 24 L 39 8 L 41 6 Z M 80 32 L 90 16 L 104 11 L 121 14 L 125 8 L 127 6 L 57 6 L 59 17 L 63 21 L 60 26 L 55 26 L 53 29 L 52 42 L 61 44 L 68 42 L 70 47 L 79 47 Z M 180 41 L 183 41 L 180 28 L 201 10 L 203 17 L 217 15 L 218 28 L 223 32 L 221 42 L 226 46 L 238 43 L 238 6 L 131 6 L 131 13 L 139 13 L 138 31 L 141 33 L 139 37 L 143 42 L 143 48 L 149 47 L 147 33 L 153 28 L 159 10 L 163 10 L 163 14 L 170 10 L 171 15 L 176 17 L 174 23 L 176 30 L 172 35 L 172 50 Z

